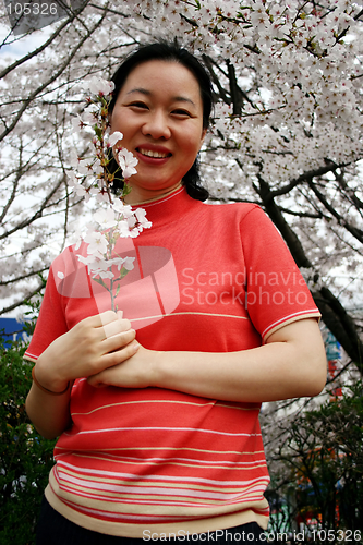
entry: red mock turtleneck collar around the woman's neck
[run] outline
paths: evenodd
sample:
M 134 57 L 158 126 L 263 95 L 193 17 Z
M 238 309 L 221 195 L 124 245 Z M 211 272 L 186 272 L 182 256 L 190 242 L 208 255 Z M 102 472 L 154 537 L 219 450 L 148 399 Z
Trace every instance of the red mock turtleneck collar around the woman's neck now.
M 182 186 L 160 198 L 145 204 L 132 205 L 132 207 L 146 210 L 147 220 L 152 221 L 153 227 L 156 227 L 178 221 L 186 213 L 195 213 L 198 205 L 202 205 L 201 201 L 191 197 L 186 189 Z

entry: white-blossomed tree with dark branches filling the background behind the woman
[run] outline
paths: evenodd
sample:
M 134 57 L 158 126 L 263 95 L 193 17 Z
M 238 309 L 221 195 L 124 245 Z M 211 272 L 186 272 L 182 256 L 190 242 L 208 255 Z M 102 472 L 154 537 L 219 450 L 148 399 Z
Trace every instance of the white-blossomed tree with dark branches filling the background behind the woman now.
M 360 324 L 347 312 L 362 294 L 362 21 L 363 3 L 348 0 L 85 1 L 31 34 L 38 45 L 15 57 L 26 37 L 3 26 L 2 312 L 37 292 L 37 275 L 84 214 L 66 175 L 72 150 L 90 148 L 71 123 L 80 82 L 109 78 L 141 41 L 177 38 L 214 82 L 201 155 L 211 199 L 264 207 L 324 322 L 363 370 Z

